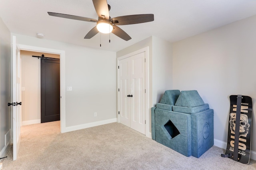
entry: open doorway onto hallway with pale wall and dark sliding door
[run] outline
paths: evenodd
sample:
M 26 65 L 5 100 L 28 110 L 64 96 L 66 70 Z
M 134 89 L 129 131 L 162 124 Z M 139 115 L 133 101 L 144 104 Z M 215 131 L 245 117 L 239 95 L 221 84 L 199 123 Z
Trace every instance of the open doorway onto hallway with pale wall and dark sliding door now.
M 54 62 L 42 64 L 40 58 L 32 56 L 50 57 Z M 22 115 L 21 125 L 30 125 L 35 123 L 48 122 L 49 117 L 54 117 L 50 121 L 60 120 L 60 55 L 51 53 L 40 53 L 35 51 L 20 51 L 21 56 L 21 85 L 22 85 Z M 52 67 L 53 65 L 53 67 Z M 57 66 L 55 66 L 57 65 Z M 47 68 L 45 68 L 47 66 Z M 54 68 L 56 68 L 54 70 Z M 43 76 L 42 76 L 43 73 Z M 46 73 L 46 74 L 45 74 Z M 52 75 L 56 75 L 53 77 Z M 56 78 L 58 77 L 58 78 Z M 49 80 L 50 79 L 50 80 Z M 58 79 L 58 80 L 56 80 Z M 47 82 L 53 83 L 49 86 Z M 53 86 L 54 85 L 54 86 Z M 58 86 L 54 89 L 51 87 Z M 51 88 L 51 89 L 49 89 Z M 50 91 L 45 93 L 45 91 Z M 46 94 L 46 95 L 45 95 Z M 44 99 L 42 99 L 44 98 Z M 52 100 L 52 101 L 51 101 Z M 54 104 L 54 107 L 49 104 Z M 52 112 L 56 112 L 53 113 Z M 50 115 L 51 114 L 51 115 Z M 47 116 L 46 116 L 47 115 Z

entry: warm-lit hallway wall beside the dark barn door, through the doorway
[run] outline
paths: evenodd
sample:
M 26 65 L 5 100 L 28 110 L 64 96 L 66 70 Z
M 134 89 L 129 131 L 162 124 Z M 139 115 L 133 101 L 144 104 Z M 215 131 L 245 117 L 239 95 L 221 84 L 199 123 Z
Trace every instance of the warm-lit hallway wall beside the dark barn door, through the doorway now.
M 20 51 L 22 60 L 22 125 L 41 123 L 41 66 L 42 53 Z M 44 53 L 44 57 L 60 58 L 60 55 Z

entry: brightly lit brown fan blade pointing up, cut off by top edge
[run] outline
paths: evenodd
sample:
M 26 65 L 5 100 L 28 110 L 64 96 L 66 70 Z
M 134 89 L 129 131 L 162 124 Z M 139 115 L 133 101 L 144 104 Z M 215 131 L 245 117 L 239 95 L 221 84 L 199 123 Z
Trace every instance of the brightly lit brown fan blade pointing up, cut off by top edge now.
M 106 0 L 92 0 L 92 2 L 98 16 L 109 20 L 108 2 Z

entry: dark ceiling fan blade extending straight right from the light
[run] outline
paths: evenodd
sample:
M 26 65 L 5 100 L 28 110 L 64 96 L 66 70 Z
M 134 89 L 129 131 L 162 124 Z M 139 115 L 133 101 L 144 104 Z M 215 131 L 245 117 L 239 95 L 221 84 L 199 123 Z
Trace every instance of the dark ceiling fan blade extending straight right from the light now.
M 120 16 L 112 18 L 115 25 L 130 25 L 135 23 L 144 23 L 154 21 L 154 14 L 138 14 L 130 16 Z

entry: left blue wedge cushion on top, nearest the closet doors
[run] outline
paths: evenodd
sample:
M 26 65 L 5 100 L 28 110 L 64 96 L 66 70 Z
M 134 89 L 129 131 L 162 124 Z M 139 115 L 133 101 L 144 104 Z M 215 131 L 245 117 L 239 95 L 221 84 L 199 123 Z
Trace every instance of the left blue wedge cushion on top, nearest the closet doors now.
M 180 90 L 166 90 L 160 103 L 174 105 L 179 95 Z

